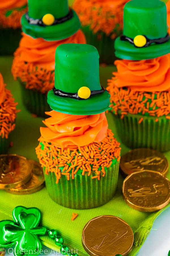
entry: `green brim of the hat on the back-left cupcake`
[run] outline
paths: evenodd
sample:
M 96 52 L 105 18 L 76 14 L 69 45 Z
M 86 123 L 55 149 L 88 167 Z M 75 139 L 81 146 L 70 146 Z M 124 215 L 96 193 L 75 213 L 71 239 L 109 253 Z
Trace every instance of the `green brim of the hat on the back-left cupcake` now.
M 22 30 L 25 34 L 32 36 L 33 38 L 43 38 L 47 41 L 62 40 L 72 36 L 80 29 L 80 20 L 73 11 L 73 17 L 70 20 L 67 20 L 61 24 L 52 25 L 52 26 L 39 26 L 31 25 L 25 18 L 25 14 L 22 16 L 21 24 Z

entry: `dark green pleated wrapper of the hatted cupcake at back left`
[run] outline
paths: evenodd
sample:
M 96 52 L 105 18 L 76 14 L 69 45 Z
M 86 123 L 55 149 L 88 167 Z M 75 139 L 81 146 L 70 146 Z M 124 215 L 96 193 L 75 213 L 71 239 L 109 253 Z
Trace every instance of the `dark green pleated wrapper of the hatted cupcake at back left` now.
M 22 100 L 23 105 L 25 108 L 40 117 L 47 117 L 45 111 L 51 111 L 50 106 L 47 103 L 47 96 L 46 94 L 42 94 L 36 90 L 30 90 L 25 88 L 25 83 L 21 80 L 21 93 L 22 93 Z

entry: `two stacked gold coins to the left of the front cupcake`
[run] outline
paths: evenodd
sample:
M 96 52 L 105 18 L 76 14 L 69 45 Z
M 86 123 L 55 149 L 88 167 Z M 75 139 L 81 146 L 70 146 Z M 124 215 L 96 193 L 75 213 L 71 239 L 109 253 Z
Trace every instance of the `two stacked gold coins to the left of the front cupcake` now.
M 0 155 L 0 189 L 24 195 L 44 187 L 44 175 L 40 164 L 16 154 Z

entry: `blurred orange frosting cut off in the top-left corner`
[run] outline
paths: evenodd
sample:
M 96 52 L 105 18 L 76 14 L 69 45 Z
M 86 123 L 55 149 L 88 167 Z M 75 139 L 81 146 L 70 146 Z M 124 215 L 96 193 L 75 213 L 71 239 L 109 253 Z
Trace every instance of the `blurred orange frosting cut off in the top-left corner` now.
M 0 10 L 11 10 L 18 7 L 23 7 L 27 5 L 26 0 L 1 0 Z

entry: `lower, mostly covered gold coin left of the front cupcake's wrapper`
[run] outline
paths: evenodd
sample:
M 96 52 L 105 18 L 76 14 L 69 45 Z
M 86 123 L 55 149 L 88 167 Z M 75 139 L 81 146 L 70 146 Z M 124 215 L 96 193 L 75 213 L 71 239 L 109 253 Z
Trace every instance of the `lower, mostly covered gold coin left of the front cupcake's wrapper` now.
M 31 179 L 22 186 L 17 186 L 13 189 L 8 189 L 9 193 L 16 195 L 26 195 L 32 194 L 40 189 L 42 189 L 45 185 L 44 183 L 44 174 L 41 165 L 33 160 L 28 160 L 32 167 L 32 177 Z

